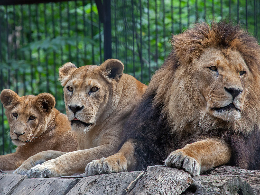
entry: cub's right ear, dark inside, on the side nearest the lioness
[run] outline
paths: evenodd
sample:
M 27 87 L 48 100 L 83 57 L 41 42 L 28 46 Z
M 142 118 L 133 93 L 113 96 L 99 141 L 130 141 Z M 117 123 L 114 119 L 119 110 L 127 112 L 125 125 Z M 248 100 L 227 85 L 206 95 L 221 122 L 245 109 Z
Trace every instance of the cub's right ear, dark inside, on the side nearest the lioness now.
M 36 103 L 45 112 L 50 113 L 55 106 L 55 98 L 49 93 L 41 93 L 36 96 Z

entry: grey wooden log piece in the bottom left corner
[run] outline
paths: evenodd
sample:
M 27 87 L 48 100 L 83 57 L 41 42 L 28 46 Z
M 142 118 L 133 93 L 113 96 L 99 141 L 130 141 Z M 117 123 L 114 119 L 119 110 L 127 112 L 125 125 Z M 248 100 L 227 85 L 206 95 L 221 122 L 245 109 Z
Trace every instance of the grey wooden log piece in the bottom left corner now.
M 26 175 L 0 174 L 0 194 L 10 194 L 26 178 Z

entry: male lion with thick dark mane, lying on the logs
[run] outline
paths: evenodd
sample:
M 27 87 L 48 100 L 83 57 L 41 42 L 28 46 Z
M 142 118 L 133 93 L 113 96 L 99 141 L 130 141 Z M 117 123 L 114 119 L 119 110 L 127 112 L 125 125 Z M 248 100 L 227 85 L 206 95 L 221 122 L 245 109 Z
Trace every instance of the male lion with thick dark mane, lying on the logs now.
M 87 175 L 145 170 L 163 160 L 192 176 L 223 164 L 260 169 L 256 39 L 212 22 L 173 36 L 172 45 L 126 122 L 120 151 L 90 162 Z

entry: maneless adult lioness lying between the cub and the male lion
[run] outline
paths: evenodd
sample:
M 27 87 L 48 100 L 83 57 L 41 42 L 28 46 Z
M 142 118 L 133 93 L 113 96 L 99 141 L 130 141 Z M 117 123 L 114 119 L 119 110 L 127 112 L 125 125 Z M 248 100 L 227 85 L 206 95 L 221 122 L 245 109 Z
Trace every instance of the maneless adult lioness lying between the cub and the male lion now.
M 123 125 L 147 88 L 133 76 L 123 74 L 122 62 L 115 59 L 100 66 L 79 68 L 68 62 L 59 69 L 59 76 L 64 87 L 66 113 L 77 133 L 78 151 L 36 165 L 27 171 L 29 177 L 83 173 L 88 162 L 115 154 L 121 143 Z M 38 155 L 38 158 L 42 157 Z

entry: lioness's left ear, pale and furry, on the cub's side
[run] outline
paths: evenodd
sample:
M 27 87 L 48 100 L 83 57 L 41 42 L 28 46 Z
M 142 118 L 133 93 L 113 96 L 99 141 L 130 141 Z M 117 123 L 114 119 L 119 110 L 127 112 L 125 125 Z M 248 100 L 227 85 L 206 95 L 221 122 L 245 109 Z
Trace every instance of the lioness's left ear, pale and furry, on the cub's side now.
M 59 68 L 59 80 L 61 81 L 61 85 L 64 87 L 69 80 L 70 75 L 74 73 L 77 69 L 75 64 L 71 62 L 65 63 L 62 67 Z

